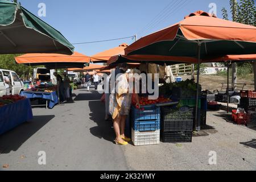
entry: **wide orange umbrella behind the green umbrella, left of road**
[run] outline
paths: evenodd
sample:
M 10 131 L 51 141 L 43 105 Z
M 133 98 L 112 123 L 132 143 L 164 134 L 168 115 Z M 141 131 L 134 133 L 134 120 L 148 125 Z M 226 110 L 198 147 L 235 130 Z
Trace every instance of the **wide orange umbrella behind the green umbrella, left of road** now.
M 15 57 L 16 63 L 26 65 L 46 65 L 47 68 L 83 68 L 90 63 L 90 57 L 79 52 L 73 55 L 57 53 L 28 53 Z

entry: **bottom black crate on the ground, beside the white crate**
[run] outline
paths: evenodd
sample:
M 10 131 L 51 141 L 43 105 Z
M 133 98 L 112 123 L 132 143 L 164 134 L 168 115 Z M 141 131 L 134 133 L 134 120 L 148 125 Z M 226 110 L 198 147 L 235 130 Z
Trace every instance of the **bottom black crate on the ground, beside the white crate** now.
M 162 132 L 161 138 L 164 143 L 192 142 L 192 131 Z

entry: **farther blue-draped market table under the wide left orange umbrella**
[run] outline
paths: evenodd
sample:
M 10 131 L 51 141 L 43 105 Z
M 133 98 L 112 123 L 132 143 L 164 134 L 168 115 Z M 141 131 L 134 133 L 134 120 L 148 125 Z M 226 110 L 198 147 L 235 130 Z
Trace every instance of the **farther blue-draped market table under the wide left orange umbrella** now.
M 23 91 L 20 93 L 20 96 L 25 96 L 27 98 L 42 98 L 46 100 L 46 107 L 48 105 L 49 109 L 52 109 L 56 104 L 59 103 L 56 92 L 49 93 L 49 92 Z

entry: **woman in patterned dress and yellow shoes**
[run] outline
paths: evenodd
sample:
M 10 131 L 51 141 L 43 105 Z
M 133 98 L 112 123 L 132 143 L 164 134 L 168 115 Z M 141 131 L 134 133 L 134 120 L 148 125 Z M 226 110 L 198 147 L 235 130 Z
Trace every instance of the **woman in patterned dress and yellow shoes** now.
M 125 67 L 121 67 L 121 73 L 115 81 L 116 93 L 110 94 L 109 112 L 112 114 L 113 126 L 115 131 L 115 143 L 120 145 L 127 145 L 130 138 L 125 137 L 125 122 L 127 115 L 130 113 L 131 107 L 131 93 L 129 93 L 129 73 L 126 72 Z M 132 71 L 131 73 L 137 73 Z M 139 105 L 139 96 L 135 94 L 136 106 Z

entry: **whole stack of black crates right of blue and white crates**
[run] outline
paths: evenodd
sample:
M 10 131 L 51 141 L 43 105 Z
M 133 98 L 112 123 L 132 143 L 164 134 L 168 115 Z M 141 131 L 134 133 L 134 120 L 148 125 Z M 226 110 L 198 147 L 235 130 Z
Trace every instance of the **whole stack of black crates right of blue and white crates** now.
M 163 142 L 192 142 L 193 108 L 162 107 L 161 115 Z

